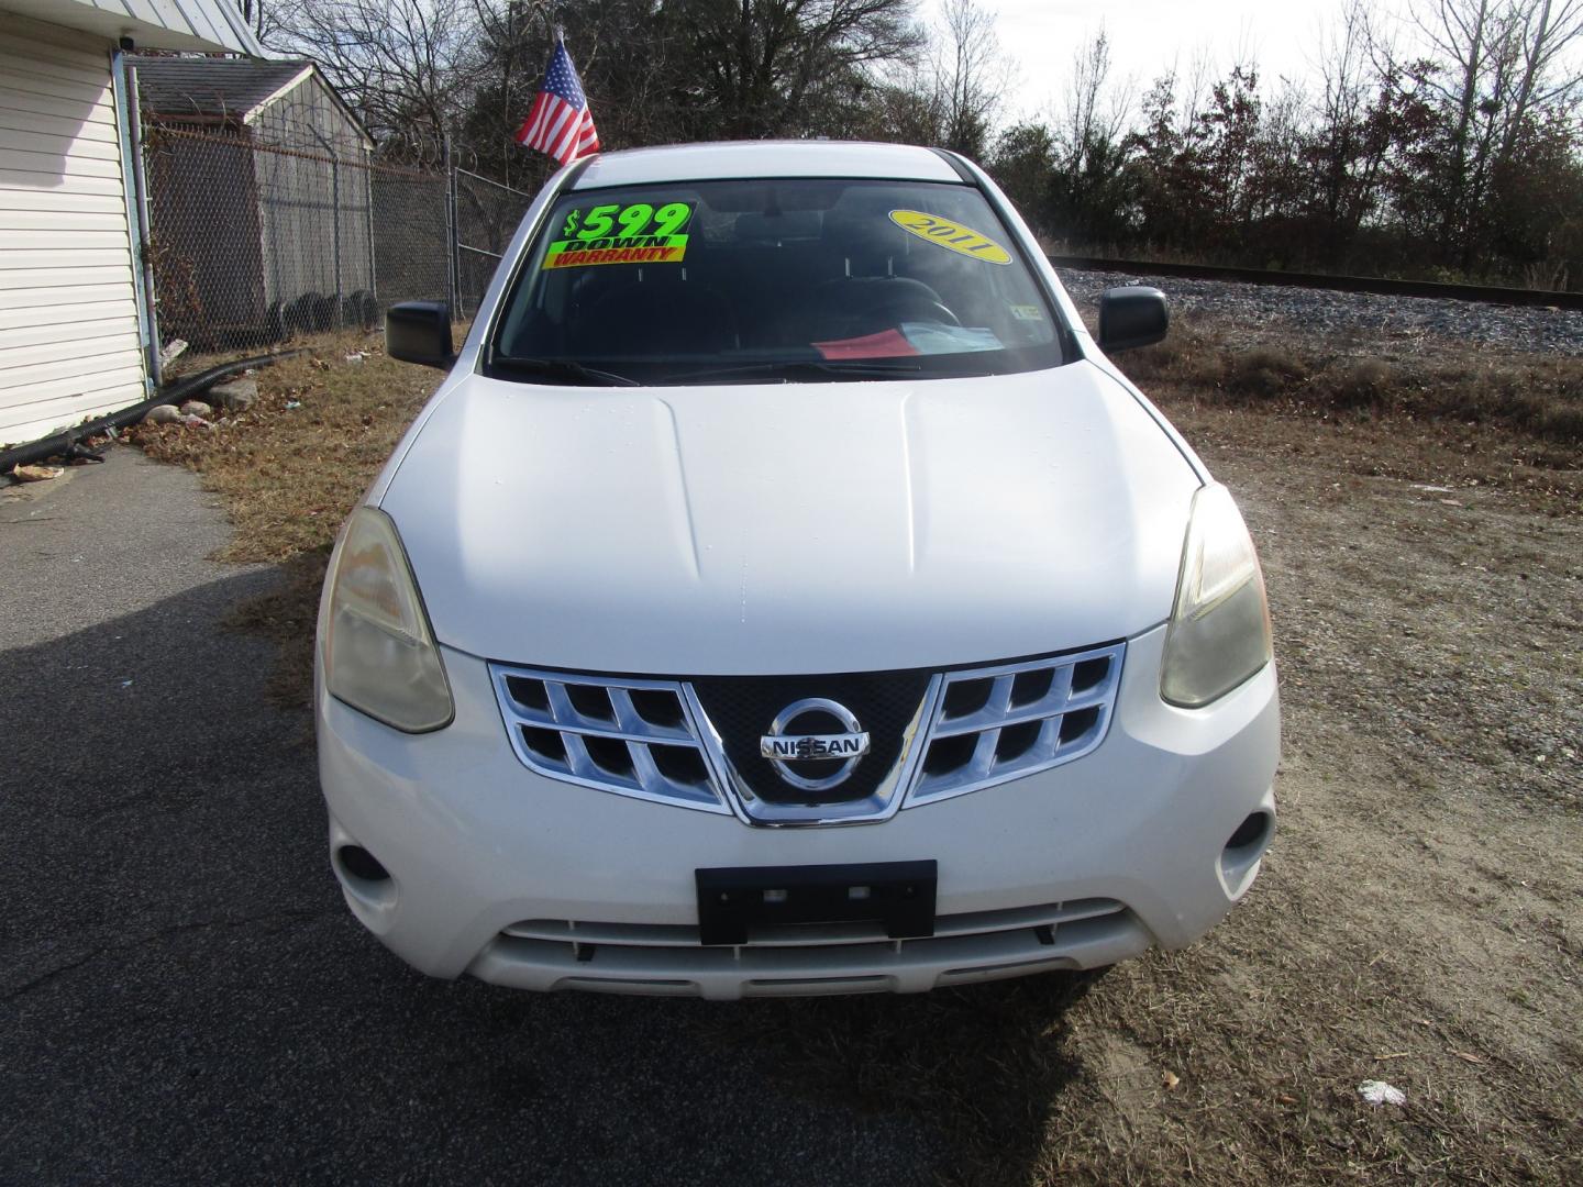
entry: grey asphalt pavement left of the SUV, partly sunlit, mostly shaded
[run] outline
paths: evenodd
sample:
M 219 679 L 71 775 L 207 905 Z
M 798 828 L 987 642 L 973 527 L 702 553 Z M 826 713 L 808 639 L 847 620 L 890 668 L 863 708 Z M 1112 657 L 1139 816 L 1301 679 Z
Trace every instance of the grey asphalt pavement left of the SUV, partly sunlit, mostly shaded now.
M 0 491 L 0 1181 L 940 1170 L 915 1114 L 784 1083 L 722 1027 L 742 1007 L 431 981 L 363 932 L 307 722 L 266 703 L 269 647 L 218 625 L 275 579 L 207 560 L 226 533 L 127 448 Z

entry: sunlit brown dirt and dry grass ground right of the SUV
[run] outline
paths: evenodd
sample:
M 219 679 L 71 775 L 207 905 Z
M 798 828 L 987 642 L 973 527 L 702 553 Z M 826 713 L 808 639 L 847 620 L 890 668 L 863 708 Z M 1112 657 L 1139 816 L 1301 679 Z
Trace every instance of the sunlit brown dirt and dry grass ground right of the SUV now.
M 1069 1090 L 1035 1178 L 1577 1178 L 1583 522 L 1469 484 L 1433 430 L 1167 411 L 1258 540 L 1281 832 L 1227 924 L 1067 1019 L 1095 1083 L 1111 1033 L 1181 1076 L 1160 1124 L 1118 1144 Z M 1404 473 L 1357 473 L 1376 453 Z

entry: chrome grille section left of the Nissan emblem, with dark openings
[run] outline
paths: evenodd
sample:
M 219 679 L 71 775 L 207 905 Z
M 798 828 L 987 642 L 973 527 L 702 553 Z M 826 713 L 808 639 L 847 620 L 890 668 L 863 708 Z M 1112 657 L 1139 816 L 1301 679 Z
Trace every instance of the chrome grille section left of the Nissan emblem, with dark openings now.
M 712 812 L 698 728 L 676 681 L 573 676 L 491 665 L 516 757 L 540 774 Z

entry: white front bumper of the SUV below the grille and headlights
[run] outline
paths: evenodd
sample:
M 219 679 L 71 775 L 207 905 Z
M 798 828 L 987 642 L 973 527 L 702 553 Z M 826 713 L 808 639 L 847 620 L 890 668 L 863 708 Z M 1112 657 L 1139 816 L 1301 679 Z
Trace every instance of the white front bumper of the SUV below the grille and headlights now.
M 1129 643 L 1105 742 L 1065 766 L 879 825 L 752 828 L 541 777 L 488 666 L 445 650 L 456 720 L 402 734 L 318 692 L 332 861 L 353 913 L 435 977 L 704 997 L 923 991 L 1176 948 L 1246 893 L 1274 820 L 1274 668 L 1198 711 L 1159 700 L 1165 630 Z M 1263 828 L 1228 839 L 1252 815 Z M 845 924 L 697 943 L 693 872 L 936 859 L 932 939 Z

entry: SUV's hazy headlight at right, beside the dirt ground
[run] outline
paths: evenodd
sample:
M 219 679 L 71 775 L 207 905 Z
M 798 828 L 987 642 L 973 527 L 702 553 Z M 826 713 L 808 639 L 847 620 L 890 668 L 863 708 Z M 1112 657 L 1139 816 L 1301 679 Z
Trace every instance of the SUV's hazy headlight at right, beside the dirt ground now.
M 1192 500 L 1160 663 L 1160 696 L 1198 709 L 1232 692 L 1270 658 L 1270 605 L 1258 554 L 1232 492 L 1211 483 Z

